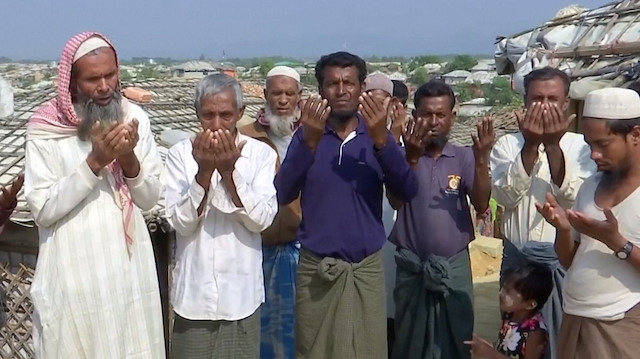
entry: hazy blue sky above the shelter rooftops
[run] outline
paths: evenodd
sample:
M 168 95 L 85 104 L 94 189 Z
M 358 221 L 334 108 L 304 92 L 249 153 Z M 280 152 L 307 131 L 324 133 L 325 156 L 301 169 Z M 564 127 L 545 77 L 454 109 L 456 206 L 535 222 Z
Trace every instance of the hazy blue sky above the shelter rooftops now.
M 491 54 L 497 35 L 536 26 L 577 0 L 0 0 L 0 56 L 57 59 L 97 30 L 120 56 Z M 608 0 L 581 0 L 597 7 Z M 56 14 L 56 15 L 53 15 Z

